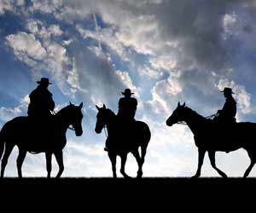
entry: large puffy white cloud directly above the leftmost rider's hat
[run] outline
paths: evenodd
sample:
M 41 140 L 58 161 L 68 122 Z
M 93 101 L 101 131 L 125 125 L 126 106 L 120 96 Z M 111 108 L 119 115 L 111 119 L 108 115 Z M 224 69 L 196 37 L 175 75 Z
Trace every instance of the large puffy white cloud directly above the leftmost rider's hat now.
M 66 79 L 72 73 L 72 60 L 67 56 L 67 49 L 59 43 L 52 42 L 50 35 L 58 36 L 62 32 L 58 26 L 52 25 L 49 27 L 51 31 L 47 31 L 40 21 L 30 20 L 27 27 L 38 37 L 43 38 L 43 43 L 34 36 L 26 32 L 18 32 L 6 37 L 8 45 L 14 49 L 15 56 L 32 67 L 33 75 L 38 78 L 41 71 L 47 70 L 52 74 L 55 82 L 64 94 L 72 95 L 74 90 L 67 88 Z

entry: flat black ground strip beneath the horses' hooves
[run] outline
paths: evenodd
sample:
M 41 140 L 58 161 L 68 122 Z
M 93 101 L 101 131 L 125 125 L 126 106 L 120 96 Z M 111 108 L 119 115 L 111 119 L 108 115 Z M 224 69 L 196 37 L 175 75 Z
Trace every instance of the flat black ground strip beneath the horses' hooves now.
M 256 178 L 3 178 L 0 179 L 0 195 L 0 204 L 4 204 L 4 199 L 15 199 L 14 204 L 18 201 L 25 206 L 36 204 L 40 208 L 50 205 L 66 210 L 71 205 L 72 212 L 91 207 L 94 211 L 103 208 L 108 212 L 113 209 L 137 212 L 136 206 L 143 208 L 143 212 L 145 209 L 154 212 L 155 208 L 156 212 L 166 212 L 166 208 L 174 206 L 179 210 L 189 208 L 191 212 L 200 209 L 213 212 L 223 204 L 229 211 L 242 207 L 244 212 L 247 203 L 254 205 L 256 202 Z

